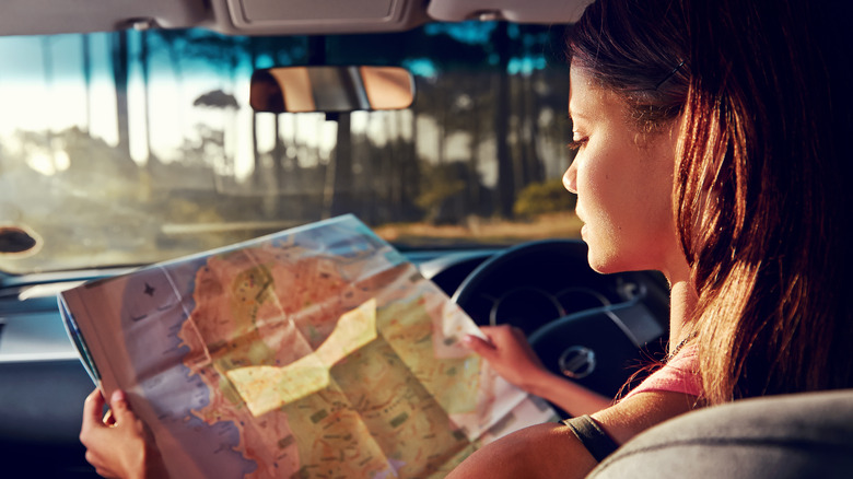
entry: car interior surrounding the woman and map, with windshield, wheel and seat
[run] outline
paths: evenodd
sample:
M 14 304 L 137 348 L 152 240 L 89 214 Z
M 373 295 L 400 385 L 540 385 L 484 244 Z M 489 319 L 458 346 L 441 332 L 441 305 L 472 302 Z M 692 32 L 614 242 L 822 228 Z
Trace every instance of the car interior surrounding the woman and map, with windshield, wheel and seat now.
M 521 328 L 552 372 L 608 396 L 638 381 L 638 366 L 665 350 L 665 279 L 652 271 L 599 274 L 576 230 L 538 233 L 540 223 L 562 221 L 549 211 L 571 209 L 559 182 L 571 131 L 560 120 L 568 68 L 559 50 L 562 33 L 588 3 L 5 0 L 0 476 L 96 477 L 78 440 L 94 385 L 66 332 L 57 293 L 349 212 L 375 226 L 475 323 Z M 91 58 L 66 49 L 71 42 Z M 17 73 L 27 69 L 35 73 Z M 71 77 L 85 86 L 61 90 Z M 265 86 L 270 79 L 272 90 Z M 318 92 L 300 90 L 301 79 Z M 442 79 L 445 86 L 434 86 Z M 92 93 L 103 82 L 110 93 Z M 62 103 L 84 95 L 86 102 Z M 167 109 L 178 102 L 187 106 Z M 69 109 L 89 112 L 87 122 L 63 119 Z M 486 116 L 474 116 L 478 110 Z M 501 112 L 513 113 L 495 120 Z M 186 120 L 190 126 L 182 128 L 191 135 L 172 140 L 166 130 L 176 127 L 156 127 L 168 117 Z M 246 133 L 261 127 L 276 133 Z M 172 156 L 160 140 L 174 143 Z M 439 153 L 421 147 L 428 142 Z M 105 153 L 121 149 L 120 161 Z M 254 163 L 243 165 L 238 150 L 254 150 Z M 418 170 L 418 162 L 426 166 Z M 401 179 L 385 179 L 384 171 Z M 486 179 L 459 186 L 471 177 Z M 525 178 L 509 186 L 515 194 L 556 182 L 562 196 L 534 191 L 506 200 L 510 177 Z M 202 179 L 220 197 L 196 186 Z M 315 179 L 315 189 L 303 190 Z M 341 186 L 357 179 L 363 183 Z M 431 189 L 418 183 L 412 192 L 409 185 L 428 179 Z M 553 201 L 540 222 L 530 219 L 539 210 L 519 207 Z M 142 202 L 166 208 L 168 217 L 136 209 Z M 477 236 L 501 214 L 530 234 Z M 441 234 L 429 241 L 398 234 L 400 224 L 422 218 Z M 135 249 L 142 243 L 156 250 Z M 849 477 L 852 470 L 853 397 L 842 392 L 688 413 L 627 443 L 591 477 Z

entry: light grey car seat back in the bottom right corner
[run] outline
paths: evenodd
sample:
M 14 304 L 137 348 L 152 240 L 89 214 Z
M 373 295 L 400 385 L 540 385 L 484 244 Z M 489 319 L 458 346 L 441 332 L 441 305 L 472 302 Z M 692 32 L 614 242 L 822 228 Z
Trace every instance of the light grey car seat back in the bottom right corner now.
M 853 389 L 693 411 L 639 434 L 587 478 L 853 478 Z

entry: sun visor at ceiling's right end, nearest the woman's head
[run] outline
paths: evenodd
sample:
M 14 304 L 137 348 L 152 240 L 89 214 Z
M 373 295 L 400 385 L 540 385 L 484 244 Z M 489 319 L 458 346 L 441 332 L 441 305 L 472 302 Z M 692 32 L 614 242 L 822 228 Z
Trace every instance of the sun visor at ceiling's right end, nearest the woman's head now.
M 426 14 L 443 22 L 507 20 L 516 23 L 574 23 L 592 0 L 432 0 Z

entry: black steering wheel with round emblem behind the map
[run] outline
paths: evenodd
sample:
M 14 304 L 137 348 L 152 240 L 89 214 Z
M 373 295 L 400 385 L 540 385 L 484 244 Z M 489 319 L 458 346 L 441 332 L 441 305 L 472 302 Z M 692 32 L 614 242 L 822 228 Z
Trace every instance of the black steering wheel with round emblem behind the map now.
M 521 328 L 542 364 L 607 397 L 663 351 L 668 291 L 650 271 L 599 274 L 587 248 L 547 240 L 479 265 L 453 295 L 474 320 Z

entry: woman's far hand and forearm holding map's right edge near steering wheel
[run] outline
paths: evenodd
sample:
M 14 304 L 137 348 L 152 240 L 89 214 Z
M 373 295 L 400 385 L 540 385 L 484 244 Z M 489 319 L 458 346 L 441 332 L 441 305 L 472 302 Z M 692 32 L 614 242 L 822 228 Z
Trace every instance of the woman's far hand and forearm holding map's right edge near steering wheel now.
M 612 398 L 548 371 L 530 349 L 521 329 L 506 325 L 484 326 L 480 329 L 489 340 L 467 336 L 465 344 L 489 361 L 498 374 L 510 383 L 553 402 L 572 416 L 592 414 L 612 405 Z

